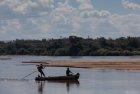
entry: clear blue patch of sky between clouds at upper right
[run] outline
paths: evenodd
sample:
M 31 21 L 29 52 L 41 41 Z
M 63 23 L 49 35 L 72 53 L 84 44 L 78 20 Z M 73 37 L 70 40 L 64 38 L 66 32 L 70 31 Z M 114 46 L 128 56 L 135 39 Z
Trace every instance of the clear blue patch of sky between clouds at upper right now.
M 137 13 L 140 14 L 140 9 L 128 9 L 122 6 L 122 0 L 92 0 L 94 6 L 98 10 L 108 10 L 111 13 L 118 13 L 118 14 L 129 14 L 129 13 Z M 134 3 L 140 4 L 140 0 L 129 0 Z

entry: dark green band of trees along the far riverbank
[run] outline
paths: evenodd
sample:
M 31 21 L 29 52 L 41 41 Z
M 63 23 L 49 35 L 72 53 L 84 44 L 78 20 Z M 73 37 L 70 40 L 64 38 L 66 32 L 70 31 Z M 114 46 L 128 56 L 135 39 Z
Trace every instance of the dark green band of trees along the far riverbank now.
M 140 55 L 140 37 L 0 41 L 0 55 L 129 56 Z

